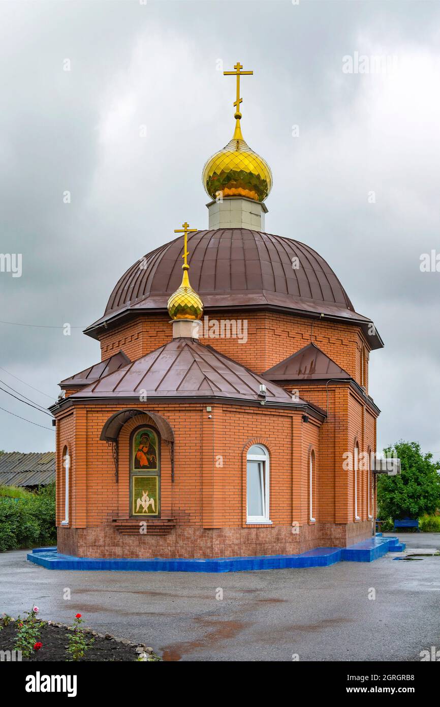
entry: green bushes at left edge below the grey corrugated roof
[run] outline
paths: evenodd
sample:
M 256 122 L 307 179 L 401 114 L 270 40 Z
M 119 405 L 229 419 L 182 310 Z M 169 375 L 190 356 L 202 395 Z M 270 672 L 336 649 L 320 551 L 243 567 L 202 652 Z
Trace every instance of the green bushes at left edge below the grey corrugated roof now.
M 53 489 L 26 493 L 23 498 L 0 497 L 1 552 L 52 544 L 56 538 Z

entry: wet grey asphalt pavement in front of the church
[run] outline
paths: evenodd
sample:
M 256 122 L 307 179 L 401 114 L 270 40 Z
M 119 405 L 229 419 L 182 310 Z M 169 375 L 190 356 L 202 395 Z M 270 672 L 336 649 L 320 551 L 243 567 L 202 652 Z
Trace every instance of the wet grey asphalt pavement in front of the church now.
M 407 556 L 440 548 L 440 534 L 399 537 L 415 548 Z M 0 612 L 33 602 L 65 623 L 81 612 L 95 631 L 164 660 L 420 660 L 440 648 L 440 556 L 393 559 L 402 556 L 208 574 L 51 571 L 13 551 L 0 554 Z

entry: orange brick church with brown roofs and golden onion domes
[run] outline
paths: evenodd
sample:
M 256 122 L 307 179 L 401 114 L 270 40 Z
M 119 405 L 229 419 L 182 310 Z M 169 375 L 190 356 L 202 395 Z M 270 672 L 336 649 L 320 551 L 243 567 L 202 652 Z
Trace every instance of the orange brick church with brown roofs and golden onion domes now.
M 374 534 L 383 342 L 319 253 L 266 232 L 272 173 L 242 135 L 251 73 L 225 72 L 235 128 L 203 168 L 208 228 L 185 221 L 121 276 L 84 332 L 100 361 L 59 384 L 61 554 L 297 555 Z

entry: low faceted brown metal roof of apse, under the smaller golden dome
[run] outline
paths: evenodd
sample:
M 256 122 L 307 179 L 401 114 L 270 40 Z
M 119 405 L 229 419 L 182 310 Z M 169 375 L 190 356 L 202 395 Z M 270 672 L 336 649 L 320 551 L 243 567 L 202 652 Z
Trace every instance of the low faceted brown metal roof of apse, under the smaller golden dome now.
M 136 398 L 198 399 L 261 402 L 260 385 L 266 385 L 266 404 L 294 407 L 292 397 L 280 386 L 256 375 L 240 363 L 194 339 L 172 339 L 137 361 L 73 393 L 67 399 Z M 299 406 L 308 403 L 300 400 Z

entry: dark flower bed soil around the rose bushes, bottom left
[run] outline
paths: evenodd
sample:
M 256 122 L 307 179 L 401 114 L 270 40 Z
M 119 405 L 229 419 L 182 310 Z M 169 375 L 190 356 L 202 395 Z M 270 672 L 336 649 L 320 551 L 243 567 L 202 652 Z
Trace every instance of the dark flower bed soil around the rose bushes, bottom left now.
M 138 659 L 136 648 L 143 648 L 143 651 L 150 655 L 148 660 L 159 660 L 152 652 L 151 648 L 145 649 L 145 645 L 131 643 L 121 638 L 110 636 L 109 633 L 103 636 L 91 629 L 85 629 L 88 638 L 93 637 L 95 643 L 86 651 L 83 658 L 78 662 L 104 662 L 118 661 L 131 662 Z M 11 621 L 8 626 L 4 626 L 0 631 L 0 650 L 13 650 L 17 635 L 17 622 Z M 46 624 L 40 629 L 40 638 L 42 648 L 35 650 L 30 658 L 23 658 L 23 662 L 44 662 L 57 661 L 64 662 L 69 660 L 69 653 L 66 653 L 66 648 L 69 643 L 70 632 L 66 626 L 62 624 Z

